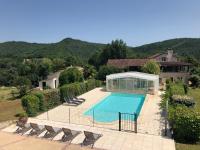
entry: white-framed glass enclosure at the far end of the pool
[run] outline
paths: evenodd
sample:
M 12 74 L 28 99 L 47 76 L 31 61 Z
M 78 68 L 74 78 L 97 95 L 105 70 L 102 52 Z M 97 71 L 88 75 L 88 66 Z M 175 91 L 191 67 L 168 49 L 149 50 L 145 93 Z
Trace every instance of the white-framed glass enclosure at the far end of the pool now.
M 124 72 L 106 76 L 107 91 L 157 93 L 159 76 L 142 72 Z

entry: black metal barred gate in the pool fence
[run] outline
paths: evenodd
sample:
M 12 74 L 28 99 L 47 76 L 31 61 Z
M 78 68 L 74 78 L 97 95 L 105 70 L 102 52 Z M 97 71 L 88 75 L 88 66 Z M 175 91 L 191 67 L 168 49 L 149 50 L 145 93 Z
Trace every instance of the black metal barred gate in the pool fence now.
M 137 114 L 119 112 L 119 131 L 137 133 Z

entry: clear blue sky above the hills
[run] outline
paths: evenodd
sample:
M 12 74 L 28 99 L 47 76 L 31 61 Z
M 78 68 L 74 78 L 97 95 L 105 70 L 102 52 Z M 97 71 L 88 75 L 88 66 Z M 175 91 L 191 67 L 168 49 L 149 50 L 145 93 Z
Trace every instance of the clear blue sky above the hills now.
M 0 0 L 0 42 L 200 38 L 200 0 Z

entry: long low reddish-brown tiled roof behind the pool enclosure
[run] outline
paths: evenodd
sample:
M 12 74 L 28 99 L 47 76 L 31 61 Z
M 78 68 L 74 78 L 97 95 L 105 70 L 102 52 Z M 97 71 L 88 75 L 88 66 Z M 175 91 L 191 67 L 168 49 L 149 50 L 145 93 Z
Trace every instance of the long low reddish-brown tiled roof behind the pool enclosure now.
M 118 68 L 125 68 L 129 66 L 143 66 L 150 59 L 109 59 L 107 65 Z

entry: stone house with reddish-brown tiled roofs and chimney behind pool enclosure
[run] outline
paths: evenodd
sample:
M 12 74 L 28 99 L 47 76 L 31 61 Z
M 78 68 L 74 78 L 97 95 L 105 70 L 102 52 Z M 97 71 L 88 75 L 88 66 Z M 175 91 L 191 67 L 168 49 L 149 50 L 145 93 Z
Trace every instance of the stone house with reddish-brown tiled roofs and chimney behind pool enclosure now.
M 107 65 L 129 71 L 141 71 L 141 67 L 149 60 L 155 60 L 160 64 L 160 84 L 164 84 L 166 79 L 187 82 L 190 77 L 189 72 L 192 65 L 180 61 L 177 55 L 173 53 L 173 50 L 168 50 L 166 53 L 155 54 L 146 59 L 109 59 Z

